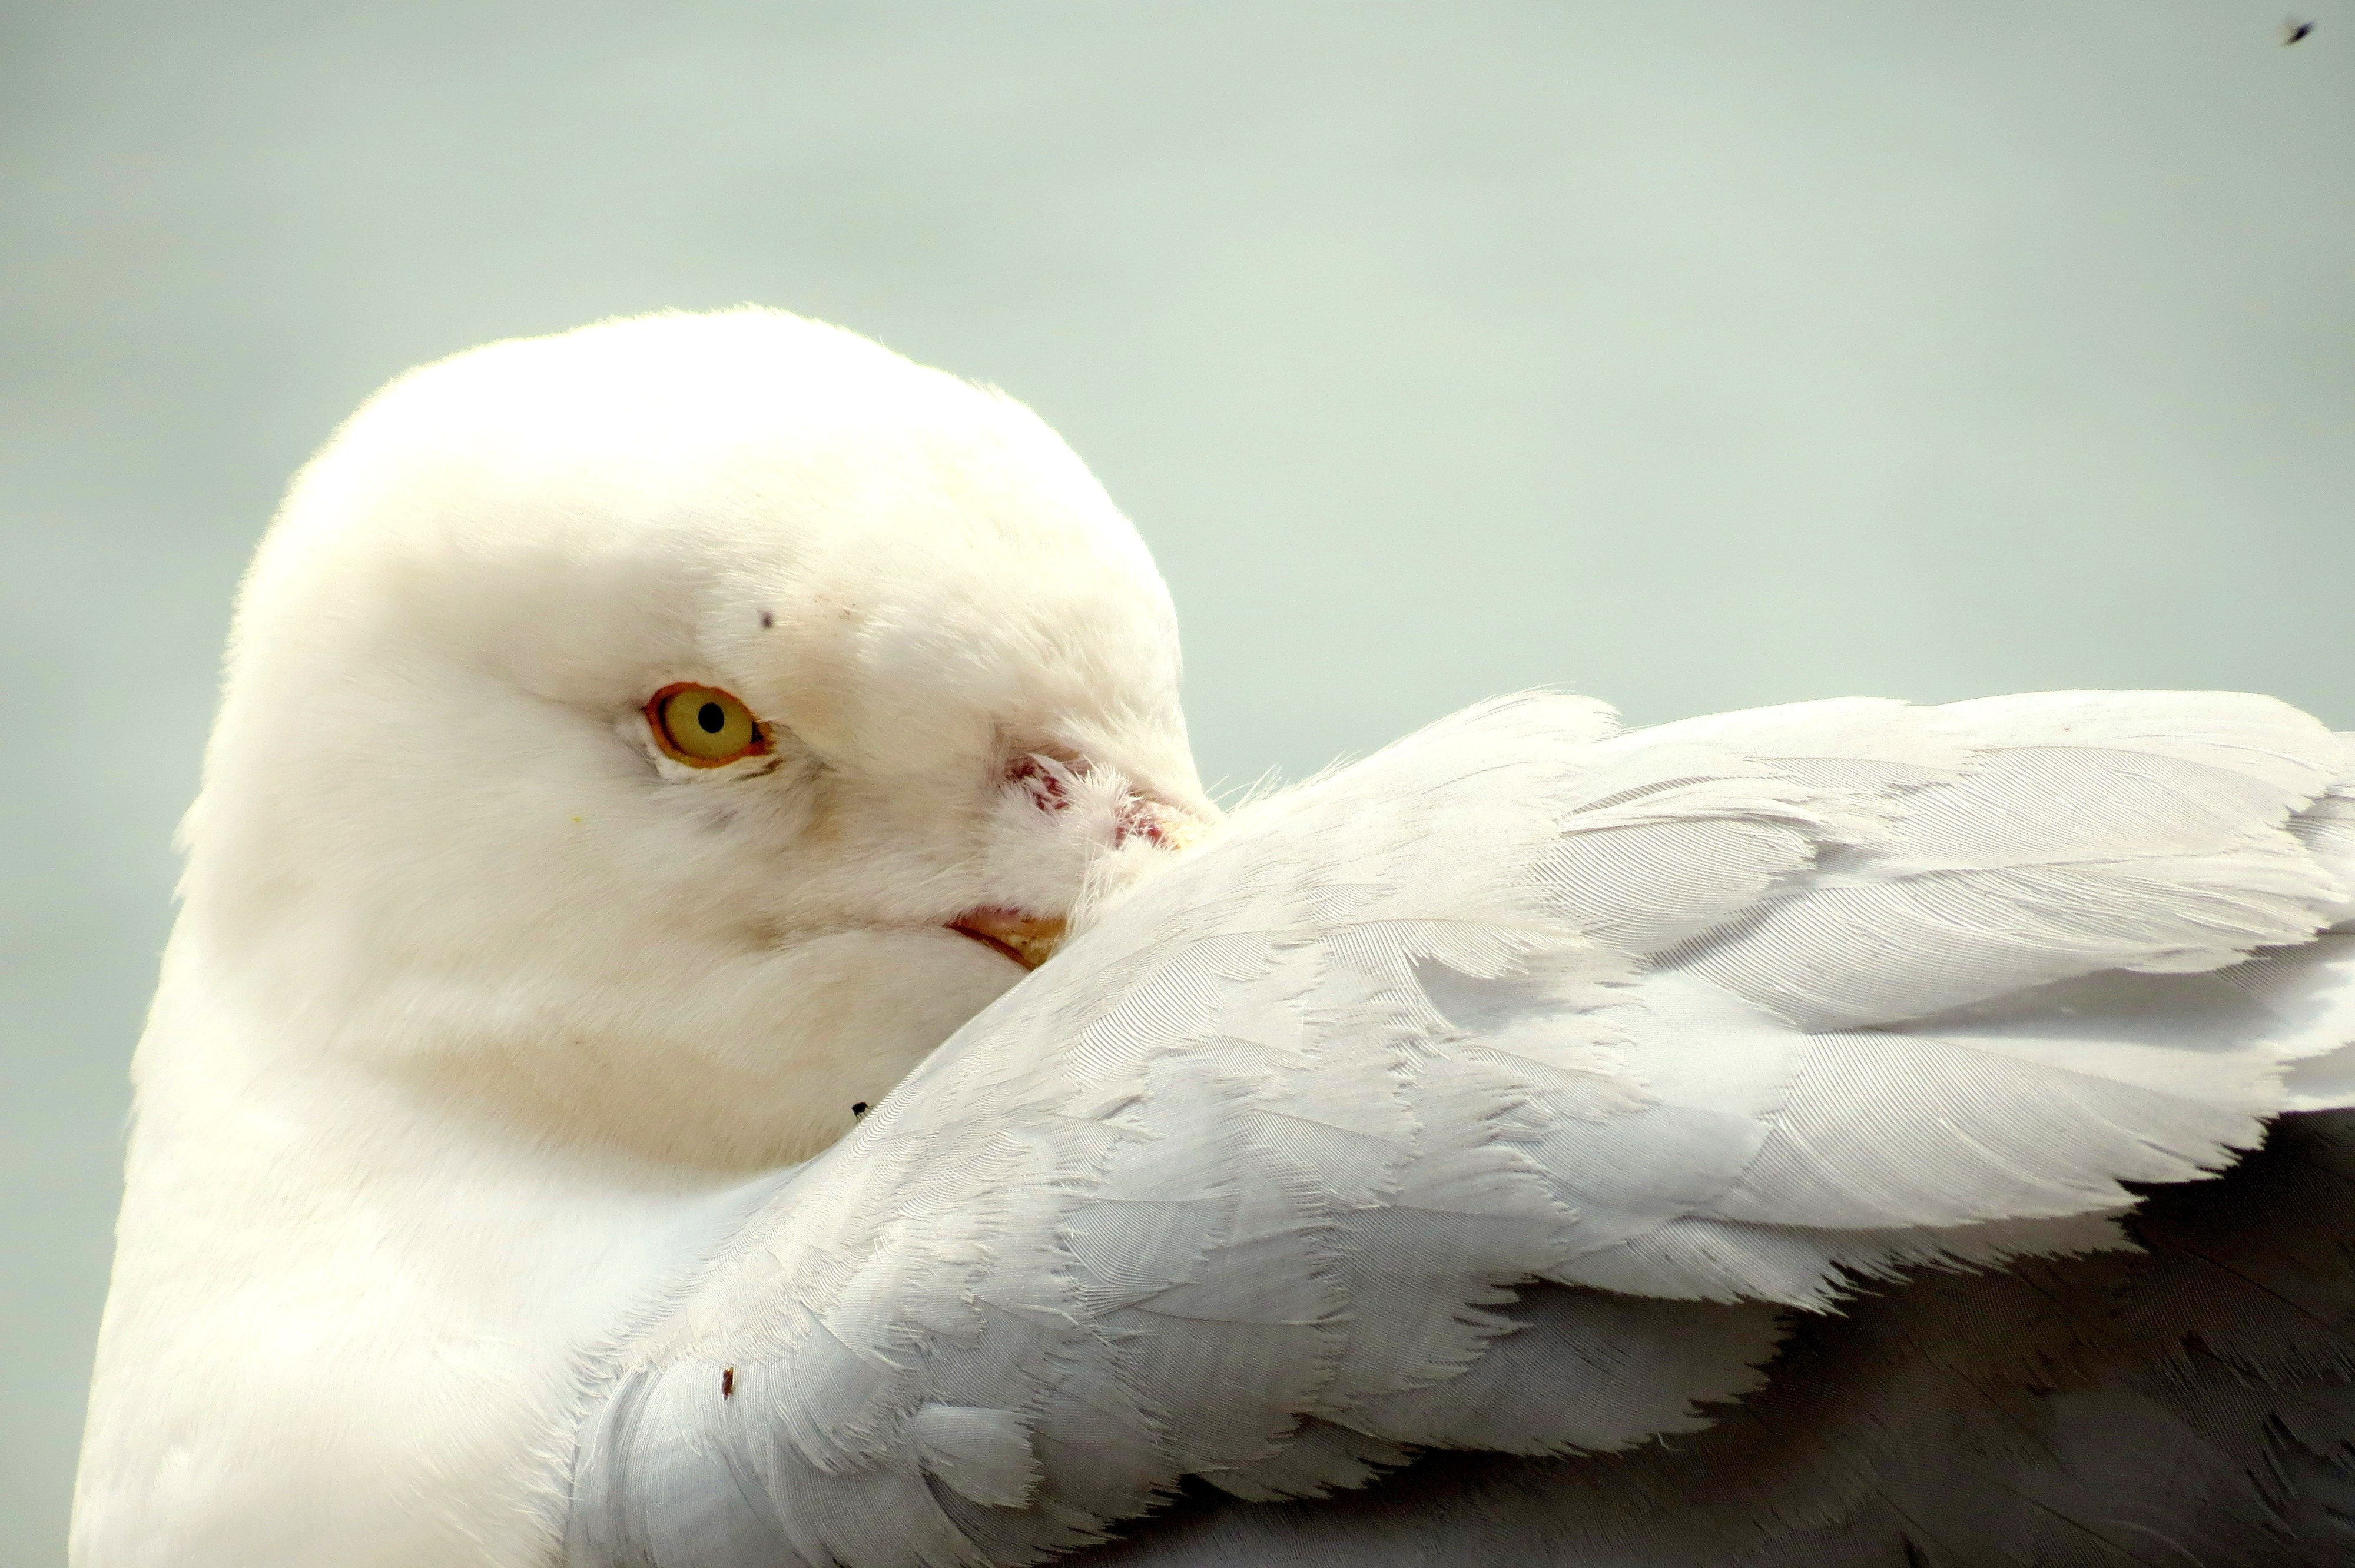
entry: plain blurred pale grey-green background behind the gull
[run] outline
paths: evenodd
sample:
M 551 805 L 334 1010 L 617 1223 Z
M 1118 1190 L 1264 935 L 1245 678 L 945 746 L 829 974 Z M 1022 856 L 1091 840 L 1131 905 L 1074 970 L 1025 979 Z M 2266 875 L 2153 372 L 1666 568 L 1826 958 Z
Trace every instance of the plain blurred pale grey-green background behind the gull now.
M 1533 683 L 2348 725 L 2308 14 L 9 0 L 0 1561 L 59 1561 L 231 589 L 377 381 L 739 299 L 999 381 L 1159 551 L 1229 782 Z

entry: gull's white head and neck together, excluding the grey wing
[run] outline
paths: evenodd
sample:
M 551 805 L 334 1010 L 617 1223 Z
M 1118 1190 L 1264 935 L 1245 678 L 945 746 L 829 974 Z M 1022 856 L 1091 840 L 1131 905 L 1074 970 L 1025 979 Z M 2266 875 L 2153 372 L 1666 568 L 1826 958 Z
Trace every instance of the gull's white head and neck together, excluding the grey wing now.
M 1213 815 L 1152 558 L 1010 398 L 751 308 L 400 377 L 245 582 L 82 1561 L 537 1552 L 568 1358 L 699 1194 Z M 431 1507 L 353 1511 L 370 1464 Z

